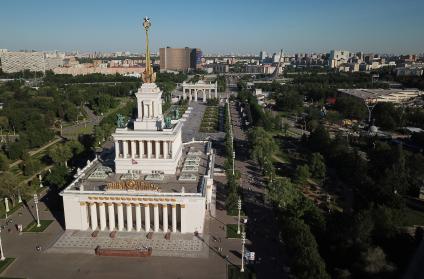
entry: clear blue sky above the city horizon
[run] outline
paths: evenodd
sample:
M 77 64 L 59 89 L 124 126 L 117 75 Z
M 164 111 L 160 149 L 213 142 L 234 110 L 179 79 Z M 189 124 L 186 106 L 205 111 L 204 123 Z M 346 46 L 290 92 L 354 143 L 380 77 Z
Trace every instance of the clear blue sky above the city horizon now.
M 205 53 L 424 52 L 424 0 L 2 1 L 0 48 Z

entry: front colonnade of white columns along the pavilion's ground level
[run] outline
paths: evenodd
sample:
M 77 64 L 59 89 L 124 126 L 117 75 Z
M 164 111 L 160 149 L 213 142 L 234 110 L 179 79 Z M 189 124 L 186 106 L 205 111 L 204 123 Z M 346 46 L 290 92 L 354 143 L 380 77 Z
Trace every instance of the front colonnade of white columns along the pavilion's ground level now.
M 184 204 L 81 202 L 80 205 L 83 228 L 93 231 L 175 233 L 181 231 L 185 209 Z

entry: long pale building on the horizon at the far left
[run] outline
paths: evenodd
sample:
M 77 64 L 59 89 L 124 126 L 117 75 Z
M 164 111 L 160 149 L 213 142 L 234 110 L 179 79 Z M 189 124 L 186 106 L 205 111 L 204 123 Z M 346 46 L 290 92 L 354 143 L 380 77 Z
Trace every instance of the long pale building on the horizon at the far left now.
M 0 52 L 2 70 L 5 73 L 16 73 L 24 70 L 45 72 L 63 65 L 63 58 L 59 55 L 44 52 Z

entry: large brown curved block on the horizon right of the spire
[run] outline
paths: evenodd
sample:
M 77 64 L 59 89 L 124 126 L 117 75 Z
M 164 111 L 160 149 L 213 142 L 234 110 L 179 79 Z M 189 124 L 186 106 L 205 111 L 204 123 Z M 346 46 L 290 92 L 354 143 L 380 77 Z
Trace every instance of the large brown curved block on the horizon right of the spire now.
M 200 69 L 202 51 L 198 48 L 160 48 L 161 71 L 183 71 Z

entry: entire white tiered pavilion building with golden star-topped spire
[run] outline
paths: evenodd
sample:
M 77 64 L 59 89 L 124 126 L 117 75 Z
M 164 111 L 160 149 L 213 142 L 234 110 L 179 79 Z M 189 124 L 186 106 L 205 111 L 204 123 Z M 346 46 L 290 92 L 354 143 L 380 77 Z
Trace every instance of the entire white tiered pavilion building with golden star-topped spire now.
M 145 18 L 146 38 L 149 27 Z M 183 119 L 164 125 L 147 42 L 137 118 L 116 129 L 111 156 L 88 161 L 60 193 L 67 230 L 202 233 L 214 215 L 212 144 L 183 143 Z

